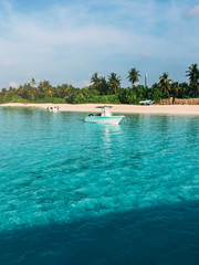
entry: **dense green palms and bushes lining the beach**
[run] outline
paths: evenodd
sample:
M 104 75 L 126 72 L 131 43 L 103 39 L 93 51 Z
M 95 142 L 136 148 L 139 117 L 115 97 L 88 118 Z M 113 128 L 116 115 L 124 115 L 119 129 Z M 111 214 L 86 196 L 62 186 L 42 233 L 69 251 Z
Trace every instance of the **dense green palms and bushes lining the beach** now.
M 169 80 L 168 73 L 159 77 L 159 82 L 151 87 L 135 85 L 140 77 L 139 71 L 132 68 L 128 72 L 128 81 L 132 87 L 121 87 L 121 76 L 111 73 L 107 81 L 104 76 L 94 73 L 91 77 L 91 85 L 76 88 L 72 85 L 63 84 L 52 86 L 49 81 L 36 84 L 32 78 L 31 83 L 20 85 L 18 88 L 2 88 L 0 92 L 0 103 L 112 103 L 112 104 L 138 104 L 139 100 L 153 99 L 159 102 L 161 98 L 191 98 L 199 97 L 199 70 L 197 64 L 192 64 L 186 76 L 189 83 L 178 83 Z

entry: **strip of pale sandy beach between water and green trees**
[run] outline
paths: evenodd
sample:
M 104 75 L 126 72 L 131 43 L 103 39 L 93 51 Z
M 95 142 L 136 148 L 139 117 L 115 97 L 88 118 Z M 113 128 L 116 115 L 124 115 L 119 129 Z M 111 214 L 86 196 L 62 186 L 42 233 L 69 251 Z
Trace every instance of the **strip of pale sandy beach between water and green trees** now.
M 49 106 L 59 106 L 60 112 L 80 112 L 80 113 L 97 113 L 96 106 L 104 104 L 22 104 L 7 103 L 0 104 L 0 107 L 30 107 L 46 109 Z M 113 106 L 112 113 L 119 114 L 178 114 L 178 115 L 199 115 L 199 105 L 122 105 L 108 104 Z

